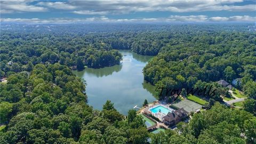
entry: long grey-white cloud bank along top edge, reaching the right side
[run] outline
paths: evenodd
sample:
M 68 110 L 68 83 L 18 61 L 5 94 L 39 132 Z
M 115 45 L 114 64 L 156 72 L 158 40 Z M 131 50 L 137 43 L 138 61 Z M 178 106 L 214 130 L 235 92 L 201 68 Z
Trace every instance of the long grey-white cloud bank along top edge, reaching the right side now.
M 243 0 L 98 0 L 98 1 L 70 1 L 70 4 L 78 7 L 77 11 L 105 11 L 111 14 L 131 12 L 202 12 L 202 11 L 256 11 L 256 5 L 234 5 Z

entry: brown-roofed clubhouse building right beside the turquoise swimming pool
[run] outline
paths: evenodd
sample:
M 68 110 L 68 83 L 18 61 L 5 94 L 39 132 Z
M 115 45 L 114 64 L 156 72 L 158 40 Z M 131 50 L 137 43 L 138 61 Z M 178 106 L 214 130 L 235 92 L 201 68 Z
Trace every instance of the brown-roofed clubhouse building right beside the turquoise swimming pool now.
M 188 111 L 180 108 L 178 110 L 173 110 L 163 117 L 164 123 L 166 125 L 175 125 L 182 121 L 183 118 L 188 116 Z

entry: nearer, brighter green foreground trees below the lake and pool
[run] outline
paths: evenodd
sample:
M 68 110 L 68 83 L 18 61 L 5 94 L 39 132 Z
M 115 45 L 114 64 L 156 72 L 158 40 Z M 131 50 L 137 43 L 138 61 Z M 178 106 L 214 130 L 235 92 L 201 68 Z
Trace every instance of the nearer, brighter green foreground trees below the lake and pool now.
M 119 114 L 107 101 L 103 110 L 86 104 L 85 86 L 66 66 L 38 64 L 1 84 L 1 143 L 248 143 L 255 141 L 256 118 L 244 110 L 215 103 L 195 114 L 182 134 L 148 133 L 141 116 Z

